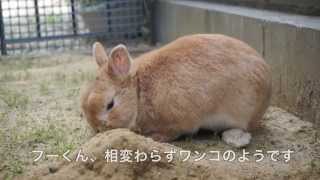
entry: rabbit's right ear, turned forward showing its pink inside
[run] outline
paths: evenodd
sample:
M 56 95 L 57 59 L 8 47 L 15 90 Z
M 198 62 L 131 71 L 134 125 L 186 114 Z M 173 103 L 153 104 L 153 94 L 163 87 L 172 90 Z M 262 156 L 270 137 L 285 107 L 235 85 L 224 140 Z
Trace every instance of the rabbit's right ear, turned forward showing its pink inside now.
M 127 47 L 120 44 L 113 48 L 110 53 L 110 61 L 108 62 L 110 75 L 116 78 L 126 77 L 129 75 L 130 67 L 131 57 Z

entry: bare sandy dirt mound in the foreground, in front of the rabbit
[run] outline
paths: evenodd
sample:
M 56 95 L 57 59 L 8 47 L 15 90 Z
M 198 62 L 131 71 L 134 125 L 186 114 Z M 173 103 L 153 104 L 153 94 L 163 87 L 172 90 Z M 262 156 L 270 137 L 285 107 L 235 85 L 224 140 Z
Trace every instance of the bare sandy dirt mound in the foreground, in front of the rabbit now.
M 110 130 L 70 154 L 70 162 L 45 165 L 17 179 L 320 178 L 317 131 L 279 108 L 269 108 L 263 128 L 244 149 L 230 147 L 212 133 L 173 144 Z M 86 162 L 79 153 L 89 157 Z

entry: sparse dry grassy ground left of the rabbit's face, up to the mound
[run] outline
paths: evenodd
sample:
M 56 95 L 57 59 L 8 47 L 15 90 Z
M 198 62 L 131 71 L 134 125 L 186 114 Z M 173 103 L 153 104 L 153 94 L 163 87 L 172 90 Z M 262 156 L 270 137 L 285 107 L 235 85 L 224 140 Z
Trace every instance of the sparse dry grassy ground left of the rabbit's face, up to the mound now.
M 61 155 L 92 135 L 79 107 L 81 86 L 94 77 L 90 60 L 64 54 L 0 61 L 0 179 L 38 165 L 33 150 Z

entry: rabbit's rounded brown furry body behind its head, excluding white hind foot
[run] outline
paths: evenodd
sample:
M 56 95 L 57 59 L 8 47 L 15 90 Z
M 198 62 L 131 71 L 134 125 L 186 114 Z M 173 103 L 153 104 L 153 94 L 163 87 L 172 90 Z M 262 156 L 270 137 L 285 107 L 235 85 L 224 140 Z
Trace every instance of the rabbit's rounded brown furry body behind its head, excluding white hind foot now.
M 247 44 L 223 35 L 179 38 L 134 66 L 143 107 L 138 123 L 148 131 L 247 129 L 269 103 L 268 65 Z

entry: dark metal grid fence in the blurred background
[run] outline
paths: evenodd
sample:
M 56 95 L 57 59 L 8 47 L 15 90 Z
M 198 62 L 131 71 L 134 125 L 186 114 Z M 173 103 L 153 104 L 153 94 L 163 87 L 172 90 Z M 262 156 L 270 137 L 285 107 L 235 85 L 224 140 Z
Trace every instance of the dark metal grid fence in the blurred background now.
M 139 40 L 143 0 L 0 0 L 1 54 Z

